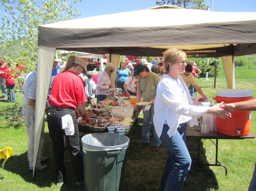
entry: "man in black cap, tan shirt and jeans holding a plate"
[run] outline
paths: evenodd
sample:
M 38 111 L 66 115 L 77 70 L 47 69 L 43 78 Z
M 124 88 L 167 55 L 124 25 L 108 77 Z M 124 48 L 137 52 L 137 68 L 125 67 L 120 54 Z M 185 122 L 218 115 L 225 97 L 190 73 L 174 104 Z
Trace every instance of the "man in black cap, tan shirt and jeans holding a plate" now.
M 143 59 L 141 59 L 143 60 Z M 137 64 L 134 67 L 134 76 L 138 76 L 137 82 L 137 95 L 134 105 L 134 110 L 138 108 L 137 103 L 139 102 L 141 96 L 143 96 L 144 102 L 150 102 L 149 106 L 143 106 L 143 125 L 142 125 L 142 141 L 139 148 L 145 147 L 150 141 L 150 122 L 153 128 L 153 147 L 152 151 L 157 151 L 159 145 L 161 144 L 160 139 L 156 135 L 154 128 L 154 100 L 156 97 L 156 87 L 159 82 L 159 77 L 156 73 L 150 72 L 148 67 L 142 64 Z

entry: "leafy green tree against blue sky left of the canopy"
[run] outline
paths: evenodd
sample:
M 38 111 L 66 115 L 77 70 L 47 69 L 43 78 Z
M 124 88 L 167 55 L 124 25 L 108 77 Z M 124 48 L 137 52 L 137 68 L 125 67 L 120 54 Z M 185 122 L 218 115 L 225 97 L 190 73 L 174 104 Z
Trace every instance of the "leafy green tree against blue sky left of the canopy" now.
M 82 1 L 82 0 L 79 0 Z M 35 67 L 37 59 L 38 26 L 80 15 L 77 0 L 2 0 L 0 2 L 1 52 L 11 55 L 6 58 L 12 64 L 22 63 L 28 70 Z M 4 56 L 4 55 L 1 55 Z

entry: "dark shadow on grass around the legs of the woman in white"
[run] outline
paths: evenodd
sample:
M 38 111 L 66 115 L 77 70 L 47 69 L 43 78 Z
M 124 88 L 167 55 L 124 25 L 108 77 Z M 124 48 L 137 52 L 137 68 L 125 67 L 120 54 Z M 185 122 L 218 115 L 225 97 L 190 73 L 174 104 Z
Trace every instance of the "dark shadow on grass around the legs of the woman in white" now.
M 141 129 L 143 119 L 138 118 L 138 125 L 133 126 L 134 132 L 130 131 L 128 137 L 130 144 L 127 149 L 127 162 L 125 165 L 125 191 L 158 191 L 160 190 L 161 178 L 168 158 L 163 145 L 159 151 L 152 152 L 153 138 L 149 144 L 139 149 L 141 142 Z M 190 152 L 192 163 L 197 161 L 197 140 L 187 139 L 187 147 Z M 201 162 L 207 163 L 204 148 L 201 146 Z M 206 191 L 218 189 L 217 180 L 213 171 L 206 166 L 192 165 L 182 191 Z

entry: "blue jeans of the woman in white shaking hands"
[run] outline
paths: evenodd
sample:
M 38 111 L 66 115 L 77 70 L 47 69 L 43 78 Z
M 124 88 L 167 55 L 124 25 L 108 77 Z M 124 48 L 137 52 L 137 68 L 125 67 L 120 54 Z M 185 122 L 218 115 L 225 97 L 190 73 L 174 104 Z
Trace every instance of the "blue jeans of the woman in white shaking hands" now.
M 163 177 L 161 180 L 161 191 L 179 191 L 188 175 L 191 166 L 191 158 L 186 147 L 187 124 L 179 124 L 177 131 L 169 137 L 168 125 L 163 125 L 160 136 L 161 142 L 168 151 L 169 158 L 166 160 Z

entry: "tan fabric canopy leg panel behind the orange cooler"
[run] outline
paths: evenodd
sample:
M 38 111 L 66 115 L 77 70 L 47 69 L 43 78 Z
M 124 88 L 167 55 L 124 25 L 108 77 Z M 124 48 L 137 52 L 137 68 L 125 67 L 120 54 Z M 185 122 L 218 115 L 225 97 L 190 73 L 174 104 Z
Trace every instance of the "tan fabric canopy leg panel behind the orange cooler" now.
M 235 89 L 235 67 L 234 57 L 232 55 L 222 56 L 222 63 L 226 75 L 228 89 Z

